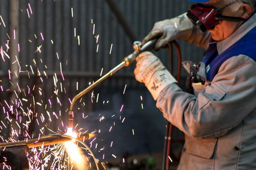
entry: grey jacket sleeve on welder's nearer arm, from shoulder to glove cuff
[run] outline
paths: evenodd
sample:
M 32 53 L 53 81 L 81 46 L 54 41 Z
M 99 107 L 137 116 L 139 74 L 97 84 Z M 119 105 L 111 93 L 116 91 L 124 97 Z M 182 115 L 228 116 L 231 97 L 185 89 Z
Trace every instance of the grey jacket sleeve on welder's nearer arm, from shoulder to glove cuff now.
M 171 84 L 157 108 L 174 126 L 194 138 L 218 138 L 256 108 L 256 63 L 245 55 L 227 59 L 198 97 Z

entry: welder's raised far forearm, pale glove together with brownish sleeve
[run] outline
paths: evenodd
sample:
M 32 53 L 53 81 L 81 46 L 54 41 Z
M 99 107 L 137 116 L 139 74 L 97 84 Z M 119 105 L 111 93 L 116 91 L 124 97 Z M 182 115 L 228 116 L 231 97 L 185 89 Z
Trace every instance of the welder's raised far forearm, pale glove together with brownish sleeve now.
M 211 35 L 208 31 L 201 32 L 196 28 L 196 26 L 189 20 L 186 13 L 184 13 L 173 19 L 156 22 L 152 30 L 142 41 L 142 44 L 154 40 L 155 38 L 158 38 L 155 43 L 155 50 L 165 47 L 170 41 L 175 39 L 195 43 L 196 46 L 207 49 L 207 44 Z

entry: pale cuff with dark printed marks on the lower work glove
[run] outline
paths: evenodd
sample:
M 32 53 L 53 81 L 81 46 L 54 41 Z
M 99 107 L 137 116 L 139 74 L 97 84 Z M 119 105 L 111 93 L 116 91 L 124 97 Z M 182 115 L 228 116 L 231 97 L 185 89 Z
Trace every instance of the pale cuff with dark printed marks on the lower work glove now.
M 146 84 L 146 88 L 148 88 L 154 100 L 157 100 L 160 92 L 170 83 L 177 83 L 177 81 L 172 74 L 164 68 L 163 70 L 155 71 L 149 82 Z

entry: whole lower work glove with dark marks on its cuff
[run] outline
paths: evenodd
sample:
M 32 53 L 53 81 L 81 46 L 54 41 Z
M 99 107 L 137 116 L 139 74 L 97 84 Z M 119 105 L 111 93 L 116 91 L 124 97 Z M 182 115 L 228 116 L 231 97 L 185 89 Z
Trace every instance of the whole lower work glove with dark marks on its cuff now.
M 158 94 L 167 85 L 177 82 L 153 53 L 143 52 L 137 56 L 136 61 L 135 78 L 139 82 L 145 83 L 154 100 L 157 100 Z

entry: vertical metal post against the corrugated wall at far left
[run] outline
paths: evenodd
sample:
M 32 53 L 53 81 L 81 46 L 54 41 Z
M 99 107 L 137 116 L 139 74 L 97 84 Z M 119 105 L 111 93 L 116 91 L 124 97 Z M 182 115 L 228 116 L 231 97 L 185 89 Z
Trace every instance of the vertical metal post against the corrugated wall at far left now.
M 9 42 L 9 56 L 10 56 L 10 72 L 11 72 L 11 80 L 10 82 L 10 105 L 15 105 L 16 95 L 14 91 L 17 91 L 17 85 L 19 83 L 19 0 L 9 0 L 9 29 L 8 34 L 10 35 Z M 11 114 L 15 120 L 15 114 Z M 13 130 L 19 129 L 15 121 L 11 121 L 9 124 L 9 132 L 11 132 L 11 128 Z

